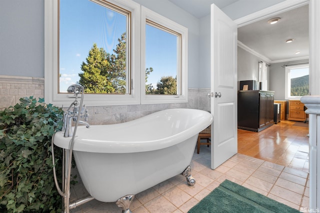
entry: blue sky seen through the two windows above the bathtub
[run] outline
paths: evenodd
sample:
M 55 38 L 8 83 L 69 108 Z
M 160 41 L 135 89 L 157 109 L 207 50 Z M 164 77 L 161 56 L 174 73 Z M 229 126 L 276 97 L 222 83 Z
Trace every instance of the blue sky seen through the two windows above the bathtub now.
M 86 62 L 93 43 L 114 53 L 117 39 L 126 31 L 125 21 L 124 15 L 90 0 L 60 0 L 60 92 L 79 80 L 82 61 Z M 155 85 L 161 76 L 175 77 L 176 36 L 148 25 L 146 34 L 145 67 L 153 68 L 147 83 Z

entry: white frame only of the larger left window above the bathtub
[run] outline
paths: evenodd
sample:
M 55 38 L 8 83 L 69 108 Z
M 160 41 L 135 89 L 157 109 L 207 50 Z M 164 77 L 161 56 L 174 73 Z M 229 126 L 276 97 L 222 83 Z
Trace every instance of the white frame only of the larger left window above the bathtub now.
M 99 2 L 99 0 L 95 0 Z M 131 91 L 129 94 L 85 94 L 87 106 L 140 103 L 140 5 L 131 0 L 107 0 L 131 12 Z M 73 94 L 58 93 L 58 1 L 44 1 L 44 98 L 55 105 L 68 105 Z

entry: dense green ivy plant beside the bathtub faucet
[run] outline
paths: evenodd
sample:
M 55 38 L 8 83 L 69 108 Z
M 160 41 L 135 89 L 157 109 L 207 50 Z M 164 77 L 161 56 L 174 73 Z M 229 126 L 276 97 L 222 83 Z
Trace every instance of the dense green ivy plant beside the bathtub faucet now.
M 62 128 L 62 116 L 62 108 L 33 96 L 0 111 L 0 212 L 62 211 L 51 153 L 51 137 Z M 56 162 L 60 156 L 56 148 Z M 62 165 L 55 164 L 61 179 Z

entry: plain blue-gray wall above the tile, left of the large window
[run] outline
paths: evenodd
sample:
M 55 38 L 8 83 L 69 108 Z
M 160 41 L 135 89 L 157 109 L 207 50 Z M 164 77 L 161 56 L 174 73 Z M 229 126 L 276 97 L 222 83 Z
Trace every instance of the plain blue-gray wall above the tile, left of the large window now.
M 43 0 L 1 0 L 1 75 L 44 77 L 43 24 Z

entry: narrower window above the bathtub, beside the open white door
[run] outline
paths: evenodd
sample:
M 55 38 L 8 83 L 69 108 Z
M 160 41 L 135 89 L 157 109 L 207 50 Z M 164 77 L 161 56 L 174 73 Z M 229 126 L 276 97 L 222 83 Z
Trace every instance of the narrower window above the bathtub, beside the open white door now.
M 141 14 L 141 103 L 187 102 L 187 28 L 143 6 Z

